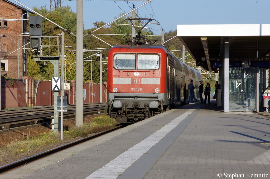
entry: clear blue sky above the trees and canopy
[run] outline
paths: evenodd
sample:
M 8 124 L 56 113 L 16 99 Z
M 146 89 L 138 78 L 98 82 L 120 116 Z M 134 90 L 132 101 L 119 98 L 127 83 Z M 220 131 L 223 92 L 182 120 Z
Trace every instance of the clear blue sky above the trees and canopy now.
M 13 0 L 10 0 L 16 3 Z M 17 0 L 32 8 L 47 6 L 50 0 Z M 76 12 L 76 0 L 64 1 Z M 83 19 L 85 29 L 90 29 L 93 22 L 108 23 L 122 12 L 129 12 L 133 7 L 147 1 L 83 1 Z M 267 24 L 270 23 L 270 0 L 153 0 L 138 9 L 140 17 L 156 19 L 160 25 L 150 25 L 154 34 L 176 30 L 177 24 Z

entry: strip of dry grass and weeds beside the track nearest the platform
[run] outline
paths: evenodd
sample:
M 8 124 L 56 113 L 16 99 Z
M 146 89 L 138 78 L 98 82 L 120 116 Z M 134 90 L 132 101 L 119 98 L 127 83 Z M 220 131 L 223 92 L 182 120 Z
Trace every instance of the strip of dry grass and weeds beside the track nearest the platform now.
M 113 128 L 118 124 L 115 119 L 111 119 L 107 115 L 85 120 L 84 125 L 81 127 L 74 127 L 72 124 L 63 125 L 63 140 L 75 138 L 75 137 L 86 137 L 89 134 L 102 132 L 107 129 Z M 0 162 L 2 159 L 6 159 L 12 156 L 16 156 L 20 153 L 41 148 L 44 146 L 52 145 L 61 141 L 61 136 L 56 132 L 46 132 L 38 136 L 27 135 L 23 140 L 15 140 L 14 142 L 4 146 L 0 150 Z

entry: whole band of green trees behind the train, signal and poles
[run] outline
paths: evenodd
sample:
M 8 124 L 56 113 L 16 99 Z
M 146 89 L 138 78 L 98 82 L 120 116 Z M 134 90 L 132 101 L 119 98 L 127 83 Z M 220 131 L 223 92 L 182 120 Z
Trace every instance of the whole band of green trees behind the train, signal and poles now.
M 46 16 L 48 19 L 52 20 L 53 22 L 59 24 L 60 26 L 64 27 L 65 29 L 68 29 L 72 31 L 73 34 L 76 34 L 76 13 L 72 12 L 69 6 L 62 6 L 60 8 L 57 8 L 53 10 L 52 12 L 49 12 L 49 10 L 46 8 L 46 6 L 41 6 L 40 8 L 34 7 L 33 8 L 36 12 L 40 13 L 43 16 Z M 119 14 L 119 17 L 122 16 L 124 13 Z M 117 17 L 114 17 L 115 19 Z M 131 34 L 132 31 L 132 25 L 128 20 L 131 18 L 131 15 L 126 15 L 121 17 L 120 19 L 113 22 L 113 25 L 116 24 L 130 24 L 130 25 L 120 25 L 120 26 L 107 26 L 103 27 L 102 29 L 99 29 L 95 32 L 96 37 L 106 41 L 106 43 L 110 45 L 117 45 L 117 44 L 126 44 L 126 39 L 131 38 L 131 36 L 127 36 L 127 34 Z M 124 21 L 125 20 L 125 21 Z M 59 36 L 58 34 L 62 33 L 62 29 L 60 29 L 58 26 L 48 22 L 46 19 L 42 20 L 43 23 L 43 35 L 44 36 Z M 138 21 L 136 22 L 138 23 Z M 92 29 L 86 29 L 84 30 L 84 33 L 90 33 L 93 30 L 96 30 L 99 27 L 102 27 L 106 23 L 103 21 L 101 22 L 94 22 L 95 25 Z M 119 34 L 119 35 L 105 35 L 105 34 Z M 123 34 L 123 35 L 120 35 Z M 126 34 L 126 36 L 124 36 Z M 141 31 L 142 35 L 154 35 L 151 30 L 144 28 Z M 165 33 L 164 40 L 167 41 L 172 37 L 166 37 L 166 36 L 176 36 L 176 30 L 175 31 L 169 31 Z M 60 36 L 61 37 L 61 36 Z M 84 37 L 83 47 L 85 49 L 84 51 L 84 58 L 85 60 L 91 60 L 91 55 L 102 51 L 102 61 L 107 61 L 108 52 L 111 48 L 110 45 L 100 41 L 96 37 L 92 36 L 91 34 Z M 146 36 L 146 38 L 151 39 L 158 39 L 158 43 L 161 44 L 161 37 L 157 36 Z M 57 39 L 53 39 L 53 43 L 56 42 Z M 49 41 L 46 38 L 43 38 L 42 40 L 43 44 L 48 44 Z M 172 40 L 166 42 L 164 46 L 171 50 L 174 55 L 178 58 L 182 58 L 182 43 L 179 40 L 179 38 L 173 38 Z M 65 76 L 68 80 L 76 80 L 76 37 L 72 36 L 65 32 L 65 46 L 71 46 L 72 48 L 66 48 L 65 49 Z M 59 47 L 60 48 L 60 47 Z M 92 50 L 86 50 L 86 49 L 92 49 Z M 94 50 L 95 49 L 95 50 Z M 174 50 L 180 50 L 180 51 L 174 51 Z M 58 55 L 58 47 L 51 48 L 51 55 Z M 185 56 L 187 56 L 189 53 L 185 52 Z M 33 51 L 28 52 L 28 76 L 33 76 L 35 79 L 39 80 L 51 80 L 51 77 L 54 76 L 54 66 L 50 62 L 40 63 L 35 62 L 33 60 L 33 55 L 35 53 Z M 43 55 L 49 55 L 49 51 L 43 51 Z M 92 59 L 94 60 L 92 62 L 93 64 L 93 70 L 92 70 L 92 79 L 94 83 L 99 83 L 99 56 L 93 55 Z M 190 65 L 188 62 L 193 62 L 194 60 L 191 58 L 191 56 L 188 56 L 185 58 L 185 61 L 188 65 Z M 59 60 L 61 64 L 61 59 Z M 107 64 L 106 62 L 102 62 L 102 82 L 107 82 Z M 192 65 L 190 65 L 192 66 Z M 195 66 L 192 66 L 195 67 Z M 91 62 L 90 61 L 84 61 L 84 81 L 90 81 L 91 80 Z M 60 73 L 62 73 L 60 71 Z M 208 78 L 209 76 L 205 75 L 203 78 Z

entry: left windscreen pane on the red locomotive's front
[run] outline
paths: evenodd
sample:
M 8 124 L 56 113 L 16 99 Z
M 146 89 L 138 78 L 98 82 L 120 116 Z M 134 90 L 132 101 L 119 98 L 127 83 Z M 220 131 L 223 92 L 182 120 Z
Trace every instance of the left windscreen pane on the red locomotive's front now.
M 113 66 L 115 69 L 135 69 L 135 54 L 115 54 L 113 57 Z

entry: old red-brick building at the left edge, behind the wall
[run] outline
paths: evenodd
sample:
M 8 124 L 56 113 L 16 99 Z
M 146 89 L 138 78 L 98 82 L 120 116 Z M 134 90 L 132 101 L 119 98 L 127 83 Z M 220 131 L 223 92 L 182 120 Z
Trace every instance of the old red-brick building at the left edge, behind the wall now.
M 22 19 L 27 19 L 29 10 L 8 0 L 0 0 L 0 7 L 1 74 L 23 79 L 27 76 L 27 50 L 23 49 L 27 36 L 22 33 L 27 32 L 27 20 Z

